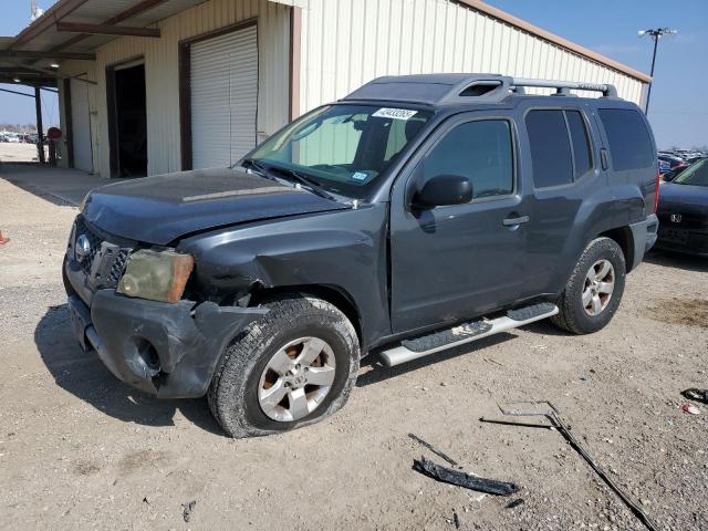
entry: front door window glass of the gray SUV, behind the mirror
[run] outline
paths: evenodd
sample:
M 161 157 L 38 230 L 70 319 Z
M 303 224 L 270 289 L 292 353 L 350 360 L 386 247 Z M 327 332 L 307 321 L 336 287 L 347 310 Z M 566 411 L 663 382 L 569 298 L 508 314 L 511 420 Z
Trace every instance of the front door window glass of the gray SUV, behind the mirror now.
M 506 119 L 467 122 L 449 131 L 423 162 L 424 183 L 459 175 L 472 183 L 475 198 L 513 192 L 511 126 Z

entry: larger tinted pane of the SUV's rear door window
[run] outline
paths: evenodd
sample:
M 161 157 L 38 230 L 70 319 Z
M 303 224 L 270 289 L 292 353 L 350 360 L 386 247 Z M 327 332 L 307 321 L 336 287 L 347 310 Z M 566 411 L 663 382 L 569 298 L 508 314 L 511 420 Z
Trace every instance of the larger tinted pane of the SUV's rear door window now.
M 531 111 L 525 118 L 537 188 L 573 181 L 573 158 L 563 111 Z

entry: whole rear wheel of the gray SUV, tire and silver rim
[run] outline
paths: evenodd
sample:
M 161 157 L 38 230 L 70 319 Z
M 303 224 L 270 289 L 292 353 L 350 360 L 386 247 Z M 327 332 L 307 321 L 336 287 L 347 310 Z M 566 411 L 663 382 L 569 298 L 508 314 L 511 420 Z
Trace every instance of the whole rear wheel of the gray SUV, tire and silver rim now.
M 626 277 L 622 248 L 611 238 L 590 242 L 561 294 L 551 321 L 574 334 L 590 334 L 607 325 L 620 308 Z

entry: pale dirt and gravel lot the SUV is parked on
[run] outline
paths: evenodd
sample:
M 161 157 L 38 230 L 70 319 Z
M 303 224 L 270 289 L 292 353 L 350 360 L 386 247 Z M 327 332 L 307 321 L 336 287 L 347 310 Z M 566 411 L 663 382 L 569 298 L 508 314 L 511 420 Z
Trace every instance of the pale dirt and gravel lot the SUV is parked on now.
M 558 433 L 478 421 L 527 399 L 554 402 L 660 529 L 708 529 L 708 407 L 679 409 L 680 391 L 708 387 L 708 261 L 649 257 L 601 333 L 541 323 L 396 369 L 369 363 L 333 418 L 231 440 L 205 400 L 157 402 L 80 351 L 60 278 L 75 208 L 2 179 L 0 198 L 2 529 L 454 530 L 454 512 L 466 530 L 643 529 Z M 442 461 L 409 433 L 522 491 L 418 475 L 414 458 Z

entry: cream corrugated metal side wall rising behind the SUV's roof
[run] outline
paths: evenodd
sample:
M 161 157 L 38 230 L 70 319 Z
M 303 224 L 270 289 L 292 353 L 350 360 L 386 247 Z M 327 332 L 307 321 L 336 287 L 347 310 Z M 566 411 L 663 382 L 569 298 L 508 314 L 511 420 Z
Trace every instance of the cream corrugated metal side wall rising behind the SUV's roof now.
M 301 112 L 381 75 L 434 72 L 612 83 L 642 97 L 641 81 L 449 0 L 303 1 Z

